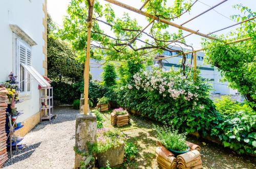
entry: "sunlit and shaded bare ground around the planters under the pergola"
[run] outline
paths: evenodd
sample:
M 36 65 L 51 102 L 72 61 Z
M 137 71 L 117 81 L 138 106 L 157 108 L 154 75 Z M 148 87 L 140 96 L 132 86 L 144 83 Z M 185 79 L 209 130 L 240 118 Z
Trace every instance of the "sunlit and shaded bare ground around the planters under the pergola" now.
M 111 112 L 103 112 L 103 126 L 113 128 L 111 125 Z M 125 168 L 157 168 L 155 150 L 156 133 L 153 126 L 162 126 L 145 117 L 130 115 L 131 125 L 121 127 L 121 131 L 126 135 L 126 140 L 136 144 L 139 155 L 134 162 L 124 161 Z M 235 155 L 229 149 L 223 149 L 216 143 L 198 140 L 194 136 L 188 136 L 187 140 L 198 144 L 201 147 L 201 158 L 204 168 L 255 168 L 256 160 L 250 156 Z

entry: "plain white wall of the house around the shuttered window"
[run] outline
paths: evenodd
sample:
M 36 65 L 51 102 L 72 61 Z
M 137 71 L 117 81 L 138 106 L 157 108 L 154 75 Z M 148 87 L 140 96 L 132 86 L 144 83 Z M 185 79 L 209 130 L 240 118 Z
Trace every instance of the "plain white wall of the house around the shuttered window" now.
M 16 46 L 15 35 L 9 24 L 17 25 L 28 34 L 36 43 L 32 49 L 32 66 L 41 74 L 44 74 L 42 62 L 44 54 L 42 46 L 44 39 L 42 34 L 44 26 L 42 21 L 44 11 L 42 5 L 44 0 L 1 0 L 0 1 L 0 82 L 5 82 L 11 71 L 16 73 Z M 17 77 L 18 78 L 18 77 Z M 18 122 L 23 122 L 28 117 L 39 112 L 39 90 L 38 83 L 32 79 L 31 93 L 20 94 L 20 99 L 24 102 L 18 103 L 17 110 L 23 110 L 24 114 L 18 118 Z

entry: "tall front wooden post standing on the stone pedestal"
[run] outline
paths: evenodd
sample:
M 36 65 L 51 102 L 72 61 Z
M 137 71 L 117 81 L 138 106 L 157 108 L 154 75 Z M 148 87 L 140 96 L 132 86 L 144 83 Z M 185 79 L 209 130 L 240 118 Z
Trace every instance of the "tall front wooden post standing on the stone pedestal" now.
M 87 29 L 87 50 L 86 50 L 86 61 L 84 62 L 84 70 L 83 70 L 83 98 L 84 98 L 84 106 L 83 113 L 88 114 L 88 92 L 89 92 L 89 66 L 90 66 L 90 47 L 91 47 L 91 28 L 92 28 L 92 17 L 93 17 L 93 5 L 94 0 L 88 1 L 88 29 Z

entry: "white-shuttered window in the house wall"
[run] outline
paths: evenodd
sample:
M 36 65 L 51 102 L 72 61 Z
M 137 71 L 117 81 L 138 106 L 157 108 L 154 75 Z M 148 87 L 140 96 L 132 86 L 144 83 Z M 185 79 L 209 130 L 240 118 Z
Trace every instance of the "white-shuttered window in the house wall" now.
M 17 79 L 19 81 L 20 92 L 29 92 L 31 90 L 30 84 L 30 74 L 28 71 L 22 66 L 23 64 L 31 65 L 32 64 L 32 54 L 31 47 L 22 41 L 16 41 L 17 46 Z

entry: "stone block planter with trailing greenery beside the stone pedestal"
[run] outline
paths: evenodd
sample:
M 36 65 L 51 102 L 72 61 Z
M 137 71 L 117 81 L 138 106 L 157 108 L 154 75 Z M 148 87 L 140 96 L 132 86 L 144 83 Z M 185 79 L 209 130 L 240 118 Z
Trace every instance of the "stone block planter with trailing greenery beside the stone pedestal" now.
M 123 163 L 124 136 L 118 129 L 97 130 L 97 159 L 100 167 Z

